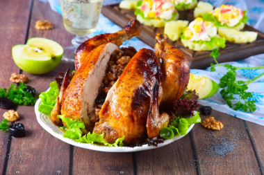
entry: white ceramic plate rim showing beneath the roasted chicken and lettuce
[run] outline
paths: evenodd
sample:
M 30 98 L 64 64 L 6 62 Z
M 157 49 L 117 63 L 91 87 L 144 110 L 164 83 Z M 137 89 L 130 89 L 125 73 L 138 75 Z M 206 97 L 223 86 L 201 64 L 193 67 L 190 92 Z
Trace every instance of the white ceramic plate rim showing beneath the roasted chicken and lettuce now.
M 52 136 L 60 140 L 63 140 L 63 142 L 67 142 L 70 145 L 74 145 L 76 147 L 82 147 L 85 149 L 92 149 L 96 151 L 105 151 L 105 152 L 133 152 L 133 151 L 143 151 L 147 149 L 155 149 L 158 147 L 163 147 L 165 145 L 170 144 L 171 142 L 174 142 L 176 140 L 183 138 L 183 136 L 176 136 L 172 139 L 165 140 L 163 143 L 159 143 L 157 147 L 148 146 L 148 145 L 142 145 L 140 147 L 106 147 L 106 146 L 101 146 L 101 145 L 92 145 L 89 143 L 75 142 L 72 139 L 63 138 L 64 132 L 60 128 L 58 128 L 56 125 L 53 125 L 49 116 L 46 116 L 44 115 L 44 113 L 40 113 L 40 111 L 38 111 L 40 102 L 41 102 L 41 99 L 38 99 L 37 102 L 35 103 L 35 115 L 37 116 L 37 120 L 40 123 L 40 126 L 42 126 Z M 190 130 L 192 130 L 193 126 L 194 124 L 190 126 L 187 133 L 189 133 Z

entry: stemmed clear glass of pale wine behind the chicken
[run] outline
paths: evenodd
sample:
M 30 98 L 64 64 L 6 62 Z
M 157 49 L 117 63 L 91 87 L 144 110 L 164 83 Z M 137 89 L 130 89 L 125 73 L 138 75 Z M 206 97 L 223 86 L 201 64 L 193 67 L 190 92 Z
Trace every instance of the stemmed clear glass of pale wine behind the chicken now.
M 67 32 L 76 35 L 72 39 L 73 46 L 65 48 L 63 58 L 74 60 L 76 48 L 93 33 L 104 0 L 60 0 L 63 12 L 63 24 Z

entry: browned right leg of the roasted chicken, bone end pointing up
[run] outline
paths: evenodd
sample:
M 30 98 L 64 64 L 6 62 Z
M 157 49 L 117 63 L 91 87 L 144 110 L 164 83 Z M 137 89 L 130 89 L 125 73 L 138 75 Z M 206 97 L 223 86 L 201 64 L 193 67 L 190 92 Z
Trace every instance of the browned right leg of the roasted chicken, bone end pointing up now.
M 162 59 L 163 98 L 160 105 L 169 107 L 172 100 L 179 99 L 187 87 L 190 63 L 185 55 L 167 43 L 166 35 L 156 34 L 155 52 Z

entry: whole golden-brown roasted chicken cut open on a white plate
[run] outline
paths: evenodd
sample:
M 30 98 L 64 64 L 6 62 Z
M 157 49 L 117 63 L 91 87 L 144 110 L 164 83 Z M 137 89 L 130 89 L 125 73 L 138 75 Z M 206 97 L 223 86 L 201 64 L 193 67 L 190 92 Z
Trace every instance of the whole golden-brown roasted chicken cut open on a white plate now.
M 172 100 L 181 97 L 188 84 L 190 65 L 180 50 L 167 43 L 165 35 L 156 35 L 156 53 L 147 48 L 136 54 L 131 48 L 119 49 L 125 39 L 139 33 L 140 24 L 134 20 L 117 33 L 98 35 L 79 46 L 75 55 L 76 74 L 66 90 L 60 89 L 63 98 L 60 94 L 53 109 L 53 122 L 59 122 L 54 116 L 61 103 L 61 114 L 83 120 L 87 131 L 104 133 L 110 143 L 124 136 L 126 145 L 134 145 L 159 136 L 170 122 L 166 109 L 171 107 Z M 119 57 L 120 62 L 128 62 L 121 65 L 120 71 L 113 61 L 109 62 L 116 53 L 135 55 L 130 61 L 126 56 Z M 106 70 L 112 67 L 119 70 L 113 80 L 106 78 Z M 112 87 L 108 87 L 101 109 L 95 110 L 99 106 L 97 95 L 109 81 Z M 97 120 L 91 116 L 97 116 Z

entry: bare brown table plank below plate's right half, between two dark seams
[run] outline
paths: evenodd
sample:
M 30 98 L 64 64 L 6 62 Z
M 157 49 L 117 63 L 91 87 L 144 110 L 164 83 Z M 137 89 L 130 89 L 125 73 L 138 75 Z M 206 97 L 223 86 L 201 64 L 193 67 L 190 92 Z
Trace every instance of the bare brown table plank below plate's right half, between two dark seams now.
M 137 174 L 196 174 L 190 136 L 147 151 L 135 153 Z

